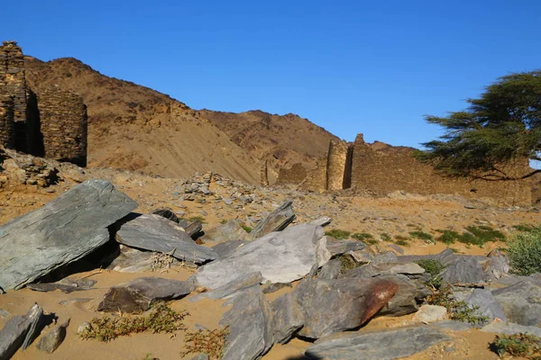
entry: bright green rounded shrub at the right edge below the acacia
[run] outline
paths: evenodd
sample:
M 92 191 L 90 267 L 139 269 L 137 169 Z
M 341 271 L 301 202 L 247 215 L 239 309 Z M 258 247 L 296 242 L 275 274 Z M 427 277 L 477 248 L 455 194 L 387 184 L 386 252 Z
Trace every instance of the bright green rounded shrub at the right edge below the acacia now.
M 519 232 L 509 241 L 507 254 L 512 273 L 541 273 L 541 230 Z

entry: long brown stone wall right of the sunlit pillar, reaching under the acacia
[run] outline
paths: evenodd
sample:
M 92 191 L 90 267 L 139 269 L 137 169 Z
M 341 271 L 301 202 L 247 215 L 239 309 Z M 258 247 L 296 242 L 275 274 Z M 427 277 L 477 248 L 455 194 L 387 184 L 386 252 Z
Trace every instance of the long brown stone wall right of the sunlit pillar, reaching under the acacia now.
M 451 193 L 468 198 L 491 198 L 500 204 L 528 206 L 532 203 L 531 185 L 523 181 L 484 181 L 450 178 L 436 173 L 432 166 L 413 157 L 413 148 L 374 149 L 358 135 L 353 145 L 352 186 L 375 193 L 404 190 L 408 193 Z M 509 165 L 508 175 L 524 175 L 527 159 Z

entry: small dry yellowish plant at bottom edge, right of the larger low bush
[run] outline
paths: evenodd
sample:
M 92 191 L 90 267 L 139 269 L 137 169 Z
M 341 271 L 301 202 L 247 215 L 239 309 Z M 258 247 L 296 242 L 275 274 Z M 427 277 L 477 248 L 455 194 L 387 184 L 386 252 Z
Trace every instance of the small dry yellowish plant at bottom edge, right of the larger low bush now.
M 180 356 L 206 354 L 211 360 L 221 359 L 224 354 L 229 328 L 187 332 L 184 339 L 186 350 Z

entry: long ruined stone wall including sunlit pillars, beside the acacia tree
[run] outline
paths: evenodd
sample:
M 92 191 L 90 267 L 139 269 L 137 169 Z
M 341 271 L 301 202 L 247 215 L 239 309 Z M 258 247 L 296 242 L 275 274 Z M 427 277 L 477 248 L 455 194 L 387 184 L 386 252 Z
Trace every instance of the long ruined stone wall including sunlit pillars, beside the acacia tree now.
M 280 169 L 278 182 L 302 184 L 309 191 L 323 192 L 356 188 L 385 195 L 397 191 L 430 195 L 457 194 L 466 198 L 491 198 L 501 204 L 529 206 L 532 204 L 531 184 L 526 180 L 486 181 L 448 177 L 434 167 L 413 157 L 415 149 L 392 147 L 375 142 L 367 144 L 362 134 L 354 143 L 331 140 L 327 156 L 299 179 L 299 164 Z M 508 175 L 528 172 L 527 159 L 506 166 Z

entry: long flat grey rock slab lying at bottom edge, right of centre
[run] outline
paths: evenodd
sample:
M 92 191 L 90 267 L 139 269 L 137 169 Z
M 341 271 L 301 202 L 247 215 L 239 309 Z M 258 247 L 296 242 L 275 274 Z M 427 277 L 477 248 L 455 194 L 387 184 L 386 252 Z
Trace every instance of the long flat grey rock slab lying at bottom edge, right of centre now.
M 344 333 L 317 340 L 305 355 L 326 360 L 391 360 L 450 340 L 443 332 L 427 326 Z

